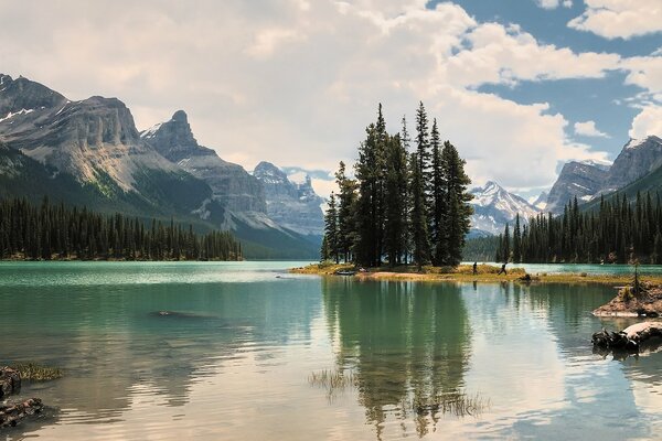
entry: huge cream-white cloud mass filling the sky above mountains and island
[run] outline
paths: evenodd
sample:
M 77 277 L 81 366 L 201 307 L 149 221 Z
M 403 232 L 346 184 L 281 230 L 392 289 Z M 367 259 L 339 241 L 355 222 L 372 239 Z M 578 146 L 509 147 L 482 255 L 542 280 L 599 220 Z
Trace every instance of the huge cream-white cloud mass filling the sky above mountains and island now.
M 413 129 L 420 99 L 476 181 L 546 186 L 558 161 L 605 155 L 568 141 L 567 120 L 547 104 L 474 88 L 599 78 L 618 55 L 540 44 L 457 4 L 426 3 L 7 2 L 0 66 L 72 99 L 117 96 L 139 128 L 182 108 L 202 144 L 248 170 L 260 160 L 334 170 L 356 157 L 377 103 L 396 131 L 404 114 Z

